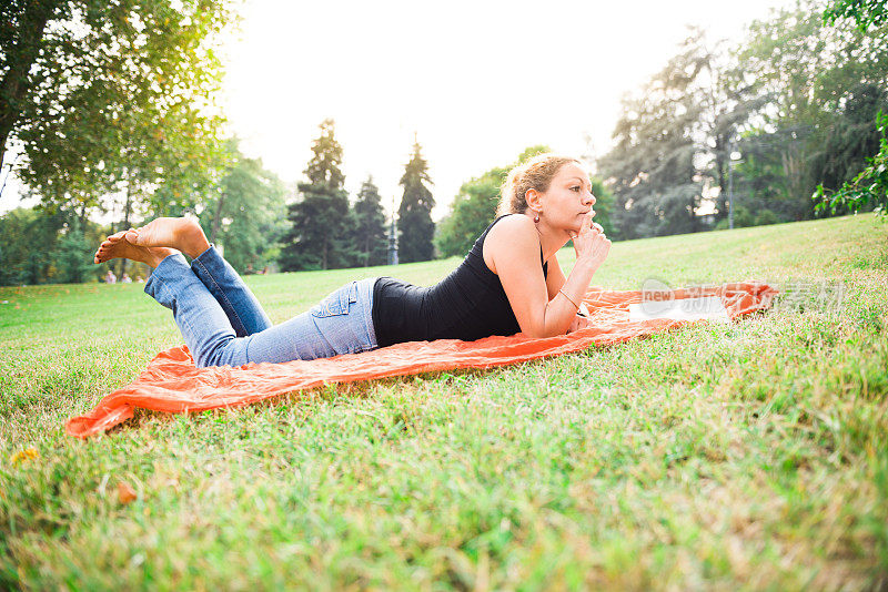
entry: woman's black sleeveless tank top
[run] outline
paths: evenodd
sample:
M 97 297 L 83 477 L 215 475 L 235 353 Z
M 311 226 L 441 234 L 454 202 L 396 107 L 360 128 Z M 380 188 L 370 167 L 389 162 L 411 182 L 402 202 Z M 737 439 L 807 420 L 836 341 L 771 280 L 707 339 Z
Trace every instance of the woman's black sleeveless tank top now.
M 414 286 L 381 277 L 373 286 L 373 328 L 380 347 L 404 341 L 462 339 L 515 335 L 518 320 L 500 282 L 484 263 L 484 239 L 500 216 L 475 241 L 463 263 L 438 284 Z M 548 264 L 543 262 L 543 276 Z

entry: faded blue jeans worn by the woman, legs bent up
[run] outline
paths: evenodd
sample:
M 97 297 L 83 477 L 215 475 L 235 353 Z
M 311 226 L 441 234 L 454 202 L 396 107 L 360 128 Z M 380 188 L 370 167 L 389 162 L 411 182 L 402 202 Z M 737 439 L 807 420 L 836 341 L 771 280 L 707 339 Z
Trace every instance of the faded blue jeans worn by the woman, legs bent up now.
M 352 282 L 307 313 L 272 326 L 246 284 L 215 248 L 191 266 L 182 255 L 164 258 L 145 293 L 172 309 L 200 368 L 329 358 L 375 349 L 373 285 Z

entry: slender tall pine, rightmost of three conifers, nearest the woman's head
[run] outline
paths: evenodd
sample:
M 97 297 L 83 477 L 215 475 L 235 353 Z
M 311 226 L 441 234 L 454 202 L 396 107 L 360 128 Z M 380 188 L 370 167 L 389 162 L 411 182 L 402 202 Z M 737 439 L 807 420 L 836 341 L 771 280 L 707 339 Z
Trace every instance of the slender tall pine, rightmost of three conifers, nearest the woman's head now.
M 428 163 L 420 154 L 420 143 L 414 141 L 413 157 L 407 163 L 400 184 L 404 187 L 401 207 L 397 208 L 398 259 L 401 263 L 428 261 L 434 253 L 432 238 L 435 223 L 432 207 L 435 200 L 426 186 Z

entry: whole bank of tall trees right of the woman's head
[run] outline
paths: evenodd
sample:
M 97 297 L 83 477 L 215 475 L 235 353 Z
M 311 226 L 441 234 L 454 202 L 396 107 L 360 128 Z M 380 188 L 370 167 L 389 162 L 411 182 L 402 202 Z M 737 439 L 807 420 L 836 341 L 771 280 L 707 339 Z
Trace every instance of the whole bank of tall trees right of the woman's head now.
M 624 102 L 601 161 L 618 237 L 723 227 L 731 185 L 738 225 L 810 218 L 815 186 L 860 173 L 879 145 L 888 29 L 821 14 L 814 0 L 773 11 L 733 49 L 693 32 Z

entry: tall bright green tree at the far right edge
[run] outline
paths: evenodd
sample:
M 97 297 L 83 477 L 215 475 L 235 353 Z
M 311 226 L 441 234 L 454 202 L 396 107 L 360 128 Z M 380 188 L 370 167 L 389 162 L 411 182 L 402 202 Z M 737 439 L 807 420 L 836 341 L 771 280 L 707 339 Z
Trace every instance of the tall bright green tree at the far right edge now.
M 775 11 L 750 24 L 738 51 L 747 76 L 769 98 L 745 142 L 760 162 L 779 163 L 769 171 L 779 187 L 773 210 L 784 210 L 786 220 L 813 217 L 815 186 L 854 176 L 878 142 L 872 119 L 859 115 L 885 90 L 888 30 L 825 27 L 821 10 L 820 2 L 805 1 Z M 745 159 L 748 145 L 740 143 Z

